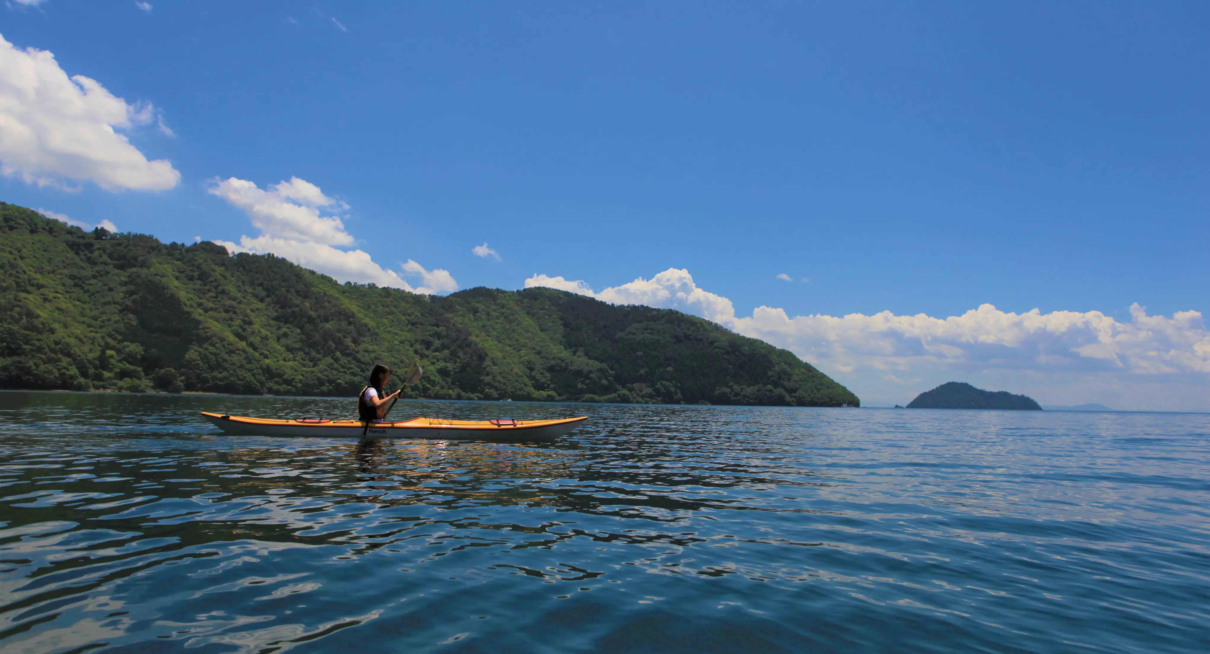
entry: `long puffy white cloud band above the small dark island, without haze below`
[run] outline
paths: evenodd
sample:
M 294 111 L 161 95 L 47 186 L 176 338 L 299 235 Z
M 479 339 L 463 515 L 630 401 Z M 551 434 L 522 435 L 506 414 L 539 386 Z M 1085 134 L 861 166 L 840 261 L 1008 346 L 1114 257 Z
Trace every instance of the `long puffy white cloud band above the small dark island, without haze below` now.
M 1118 322 L 1100 311 L 1015 314 L 984 304 L 946 319 L 891 311 L 790 317 L 784 309 L 759 306 L 751 317 L 724 323 L 841 369 L 910 371 L 927 365 L 967 371 L 1210 373 L 1210 333 L 1202 314 L 1148 316 L 1134 304 L 1130 315 L 1130 322 Z

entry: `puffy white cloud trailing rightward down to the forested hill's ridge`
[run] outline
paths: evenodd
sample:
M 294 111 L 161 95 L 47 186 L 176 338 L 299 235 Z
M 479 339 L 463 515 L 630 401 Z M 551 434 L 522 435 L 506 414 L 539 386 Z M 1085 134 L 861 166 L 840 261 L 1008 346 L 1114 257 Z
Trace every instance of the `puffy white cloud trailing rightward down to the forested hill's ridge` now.
M 260 230 L 260 236 L 241 236 L 238 243 L 214 241 L 230 252 L 276 254 L 342 282 L 376 283 L 425 294 L 457 291 L 457 282 L 448 270 L 426 270 L 408 259 L 402 270 L 421 280 L 419 287 L 413 287 L 399 272 L 374 263 L 368 253 L 335 247 L 350 247 L 356 242 L 345 230 L 344 220 L 332 214 L 333 210 L 347 210 L 348 206 L 324 195 L 319 187 L 305 179 L 292 177 L 266 190 L 231 177 L 217 182 L 209 193 L 243 210 Z

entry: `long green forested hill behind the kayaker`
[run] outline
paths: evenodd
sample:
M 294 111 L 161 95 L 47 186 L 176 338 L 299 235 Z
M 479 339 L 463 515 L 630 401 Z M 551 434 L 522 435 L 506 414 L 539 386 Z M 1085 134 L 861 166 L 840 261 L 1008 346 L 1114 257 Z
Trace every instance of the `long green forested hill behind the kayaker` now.
M 426 297 L 273 256 L 85 233 L 0 202 L 0 386 L 355 396 L 414 358 L 414 396 L 858 405 L 789 351 L 646 306 L 528 288 Z

